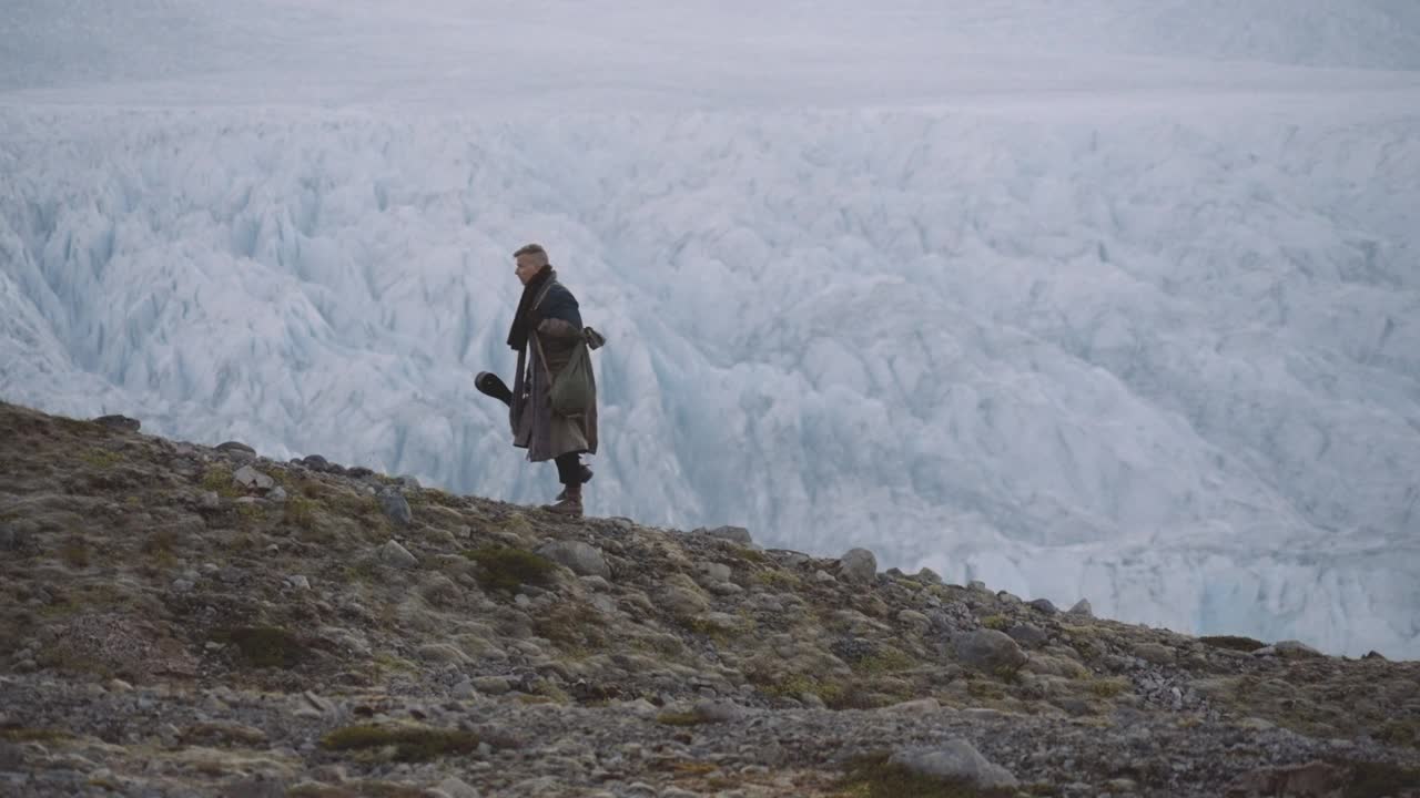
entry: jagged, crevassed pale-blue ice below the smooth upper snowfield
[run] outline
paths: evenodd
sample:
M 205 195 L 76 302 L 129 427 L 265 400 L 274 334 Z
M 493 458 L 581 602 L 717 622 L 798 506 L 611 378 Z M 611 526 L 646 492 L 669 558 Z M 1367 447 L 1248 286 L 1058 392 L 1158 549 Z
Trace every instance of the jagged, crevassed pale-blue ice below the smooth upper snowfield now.
M 1420 124 L 0 111 L 0 395 L 541 501 L 508 253 L 598 354 L 589 510 L 1420 656 Z

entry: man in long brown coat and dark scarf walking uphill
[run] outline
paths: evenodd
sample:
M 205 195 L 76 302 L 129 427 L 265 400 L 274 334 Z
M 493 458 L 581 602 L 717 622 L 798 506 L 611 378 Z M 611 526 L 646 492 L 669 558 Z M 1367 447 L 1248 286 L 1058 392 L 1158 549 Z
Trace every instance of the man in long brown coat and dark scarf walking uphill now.
M 508 331 L 508 346 L 518 354 L 508 405 L 513 446 L 527 449 L 534 463 L 557 463 L 562 493 L 555 504 L 542 508 L 579 518 L 582 484 L 591 479 L 591 469 L 582 466 L 579 456 L 596 453 L 595 383 L 589 406 L 575 415 L 555 413 L 548 392 L 577 346 L 584 345 L 582 314 L 572 293 L 557 281 L 547 250 L 528 244 L 513 253 L 513 260 L 523 283 L 523 298 Z

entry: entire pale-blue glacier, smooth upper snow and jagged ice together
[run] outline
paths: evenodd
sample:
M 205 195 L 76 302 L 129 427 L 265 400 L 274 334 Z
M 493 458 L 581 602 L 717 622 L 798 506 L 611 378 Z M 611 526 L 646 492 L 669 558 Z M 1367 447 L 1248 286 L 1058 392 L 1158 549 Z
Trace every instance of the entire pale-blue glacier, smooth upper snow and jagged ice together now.
M 537 240 L 594 514 L 1420 656 L 1411 4 L 13 6 L 0 398 L 542 501 Z

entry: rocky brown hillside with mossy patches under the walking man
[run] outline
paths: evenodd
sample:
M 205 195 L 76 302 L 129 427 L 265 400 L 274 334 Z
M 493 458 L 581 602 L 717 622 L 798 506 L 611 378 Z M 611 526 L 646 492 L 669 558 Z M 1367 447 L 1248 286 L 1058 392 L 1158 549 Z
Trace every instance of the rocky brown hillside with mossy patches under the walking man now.
M 0 602 L 4 795 L 1420 795 L 1420 663 L 122 417 L 0 405 Z

